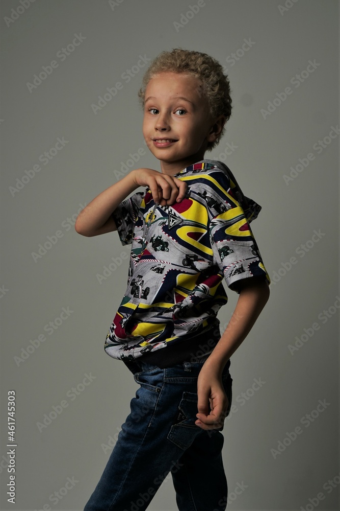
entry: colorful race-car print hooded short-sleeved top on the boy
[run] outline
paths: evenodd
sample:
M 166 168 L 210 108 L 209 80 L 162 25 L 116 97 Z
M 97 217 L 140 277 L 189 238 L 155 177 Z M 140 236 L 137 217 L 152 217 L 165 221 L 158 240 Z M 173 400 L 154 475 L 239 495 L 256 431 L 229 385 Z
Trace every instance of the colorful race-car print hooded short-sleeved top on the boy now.
M 167 347 L 202 339 L 227 303 L 223 278 L 236 292 L 244 278 L 270 283 L 249 226 L 261 206 L 230 170 L 204 159 L 175 177 L 188 184 L 181 202 L 160 206 L 146 189 L 112 213 L 122 245 L 132 244 L 127 289 L 104 346 L 115 359 L 158 350 L 166 357 Z

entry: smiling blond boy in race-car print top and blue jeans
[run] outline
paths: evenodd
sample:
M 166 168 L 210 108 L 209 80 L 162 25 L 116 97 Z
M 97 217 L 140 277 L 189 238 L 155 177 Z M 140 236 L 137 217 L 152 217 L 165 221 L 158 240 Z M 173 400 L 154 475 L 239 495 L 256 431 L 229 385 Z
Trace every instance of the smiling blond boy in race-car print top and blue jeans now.
M 127 290 L 105 350 L 140 385 L 84 511 L 146 509 L 169 472 L 178 509 L 223 510 L 230 356 L 269 298 L 269 275 L 249 227 L 260 206 L 226 166 L 203 159 L 231 113 L 229 82 L 215 59 L 163 52 L 139 97 L 143 135 L 161 172 L 131 171 L 75 224 L 84 236 L 117 230 L 123 245 L 132 243 Z M 147 188 L 126 199 L 140 186 Z M 223 278 L 240 296 L 221 337 Z

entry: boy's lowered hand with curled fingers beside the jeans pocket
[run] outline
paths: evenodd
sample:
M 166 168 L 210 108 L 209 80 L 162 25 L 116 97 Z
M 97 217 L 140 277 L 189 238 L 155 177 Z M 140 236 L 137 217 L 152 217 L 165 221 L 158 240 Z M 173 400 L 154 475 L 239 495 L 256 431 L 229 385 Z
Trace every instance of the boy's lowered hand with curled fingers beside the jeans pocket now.
M 202 429 L 217 429 L 223 426 L 228 409 L 228 398 L 218 371 L 203 364 L 197 380 L 198 413 L 196 426 Z M 210 408 L 209 410 L 209 403 Z

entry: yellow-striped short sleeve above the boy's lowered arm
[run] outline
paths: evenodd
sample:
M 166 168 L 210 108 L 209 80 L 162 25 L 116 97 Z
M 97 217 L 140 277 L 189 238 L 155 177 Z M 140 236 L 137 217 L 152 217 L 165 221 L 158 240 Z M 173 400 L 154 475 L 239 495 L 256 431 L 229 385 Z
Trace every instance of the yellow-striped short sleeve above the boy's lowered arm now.
M 244 278 L 263 276 L 270 284 L 270 277 L 261 258 L 257 243 L 250 228 L 243 207 L 235 198 L 228 176 L 216 173 L 218 196 L 218 214 L 210 223 L 210 240 L 214 259 L 223 275 L 228 288 L 239 293 L 238 282 Z

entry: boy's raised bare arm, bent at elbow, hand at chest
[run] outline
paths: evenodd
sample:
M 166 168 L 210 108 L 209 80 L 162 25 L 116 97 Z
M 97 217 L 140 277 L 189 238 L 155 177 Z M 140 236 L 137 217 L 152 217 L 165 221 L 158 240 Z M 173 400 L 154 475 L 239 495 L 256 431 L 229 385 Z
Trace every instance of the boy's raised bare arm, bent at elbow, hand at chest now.
M 187 184 L 176 177 L 152 169 L 132 170 L 84 207 L 74 224 L 76 232 L 92 237 L 117 230 L 113 211 L 127 195 L 143 186 L 150 189 L 154 201 L 161 205 L 180 202 L 187 189 Z

